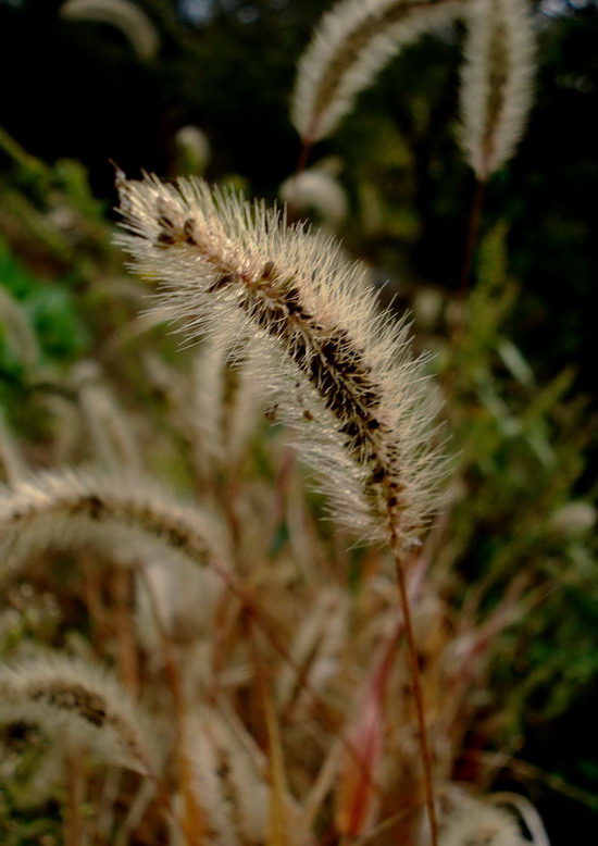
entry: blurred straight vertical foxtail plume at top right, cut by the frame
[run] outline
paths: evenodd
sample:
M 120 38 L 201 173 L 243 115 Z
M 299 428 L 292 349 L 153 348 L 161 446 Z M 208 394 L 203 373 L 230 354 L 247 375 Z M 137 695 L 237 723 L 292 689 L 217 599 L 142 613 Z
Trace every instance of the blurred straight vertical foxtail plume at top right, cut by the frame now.
M 513 154 L 532 108 L 534 25 L 527 0 L 476 0 L 461 77 L 461 142 L 479 182 Z

